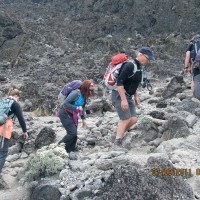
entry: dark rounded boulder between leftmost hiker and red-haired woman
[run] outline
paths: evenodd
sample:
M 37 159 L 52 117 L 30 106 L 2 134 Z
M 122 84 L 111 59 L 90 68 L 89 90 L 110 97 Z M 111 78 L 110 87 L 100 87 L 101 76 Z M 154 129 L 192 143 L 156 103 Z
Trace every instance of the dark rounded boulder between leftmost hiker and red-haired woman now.
M 49 127 L 44 127 L 35 139 L 35 147 L 41 148 L 45 145 L 51 144 L 55 139 L 55 131 Z

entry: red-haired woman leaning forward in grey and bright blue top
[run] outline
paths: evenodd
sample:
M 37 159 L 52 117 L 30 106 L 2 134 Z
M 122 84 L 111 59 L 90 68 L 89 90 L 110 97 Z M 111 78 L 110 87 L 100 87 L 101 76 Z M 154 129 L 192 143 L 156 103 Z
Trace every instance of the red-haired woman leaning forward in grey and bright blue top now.
M 76 150 L 78 116 L 81 117 L 82 127 L 84 127 L 86 125 L 84 108 L 88 98 L 94 95 L 94 84 L 91 80 L 84 80 L 78 88 L 76 88 L 77 82 L 68 83 L 69 85 L 71 91 L 67 92 L 59 111 L 60 121 L 67 132 L 59 144 L 65 143 L 68 153 Z

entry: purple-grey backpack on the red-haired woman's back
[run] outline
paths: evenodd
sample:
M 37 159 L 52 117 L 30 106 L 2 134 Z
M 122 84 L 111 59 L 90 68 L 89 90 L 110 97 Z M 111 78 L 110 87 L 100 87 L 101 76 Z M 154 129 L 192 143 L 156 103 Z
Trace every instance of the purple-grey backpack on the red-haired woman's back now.
M 82 85 L 82 81 L 80 81 L 80 80 L 73 80 L 73 81 L 65 84 L 64 87 L 62 88 L 62 90 L 60 91 L 59 95 L 58 95 L 58 100 L 59 100 L 60 104 L 63 104 L 65 98 L 73 90 L 80 88 L 81 85 Z

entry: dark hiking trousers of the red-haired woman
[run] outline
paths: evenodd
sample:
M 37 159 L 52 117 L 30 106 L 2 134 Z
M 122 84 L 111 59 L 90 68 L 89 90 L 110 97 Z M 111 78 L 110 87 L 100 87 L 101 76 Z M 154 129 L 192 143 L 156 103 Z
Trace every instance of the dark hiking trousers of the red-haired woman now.
M 59 144 L 64 142 L 65 149 L 68 153 L 75 151 L 77 142 L 77 126 L 74 124 L 72 114 L 62 108 L 60 110 L 60 121 L 67 131 L 67 135 L 63 137 Z

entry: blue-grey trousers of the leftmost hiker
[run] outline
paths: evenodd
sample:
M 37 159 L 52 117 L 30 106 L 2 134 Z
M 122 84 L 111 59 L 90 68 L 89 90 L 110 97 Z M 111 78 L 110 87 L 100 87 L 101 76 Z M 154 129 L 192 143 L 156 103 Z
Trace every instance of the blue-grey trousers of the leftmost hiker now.
M 9 147 L 9 139 L 4 138 L 4 143 L 2 145 L 3 138 L 0 137 L 0 173 L 3 169 L 4 163 L 6 161 L 6 157 L 8 155 L 8 147 Z

